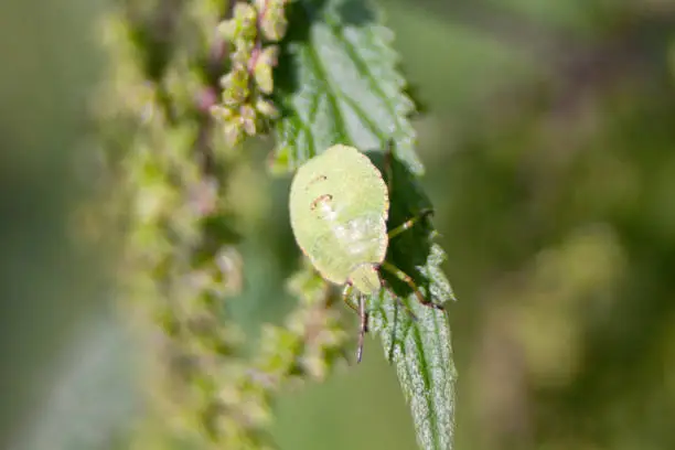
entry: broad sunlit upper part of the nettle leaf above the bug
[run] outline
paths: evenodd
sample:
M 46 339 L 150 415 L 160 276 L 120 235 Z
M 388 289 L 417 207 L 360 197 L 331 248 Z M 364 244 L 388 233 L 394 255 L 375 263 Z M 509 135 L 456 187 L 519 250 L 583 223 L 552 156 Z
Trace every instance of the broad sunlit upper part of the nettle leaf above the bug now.
M 278 148 L 292 171 L 334 143 L 381 149 L 389 139 L 397 157 L 421 174 L 413 101 L 396 69 L 393 33 L 362 0 L 299 0 L 289 6 L 289 33 L 276 73 Z

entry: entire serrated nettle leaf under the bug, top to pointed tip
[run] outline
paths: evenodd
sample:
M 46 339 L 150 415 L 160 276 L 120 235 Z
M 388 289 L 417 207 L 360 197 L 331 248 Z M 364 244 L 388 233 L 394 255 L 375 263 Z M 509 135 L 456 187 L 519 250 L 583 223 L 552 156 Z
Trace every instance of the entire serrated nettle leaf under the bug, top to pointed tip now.
M 429 208 L 417 181 L 424 169 L 409 121 L 414 105 L 404 94 L 392 32 L 363 0 L 298 0 L 289 6 L 289 23 L 275 78 L 281 119 L 272 168 L 293 171 L 332 144 L 353 146 L 390 182 L 390 229 Z M 389 144 L 390 172 L 384 151 Z M 453 293 L 433 235 L 430 221 L 421 221 L 390 242 L 387 261 L 413 277 L 426 299 L 444 303 Z M 383 276 L 389 288 L 368 299 L 371 331 L 396 366 L 420 447 L 450 449 L 457 374 L 446 313 Z

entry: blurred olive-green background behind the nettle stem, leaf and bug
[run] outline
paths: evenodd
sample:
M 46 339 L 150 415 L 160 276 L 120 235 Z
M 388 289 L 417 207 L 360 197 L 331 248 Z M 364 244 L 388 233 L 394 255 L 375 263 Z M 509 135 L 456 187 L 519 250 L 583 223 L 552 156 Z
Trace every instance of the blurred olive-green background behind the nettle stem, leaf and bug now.
M 457 449 L 675 448 L 675 2 L 381 3 L 424 105 L 424 185 L 459 298 Z M 128 449 L 157 426 L 114 258 L 71 219 L 92 194 L 106 7 L 0 7 L 0 448 Z M 251 328 L 291 308 L 279 286 L 297 256 L 288 180 L 254 154 L 236 174 Z M 281 449 L 415 448 L 378 345 L 280 401 Z

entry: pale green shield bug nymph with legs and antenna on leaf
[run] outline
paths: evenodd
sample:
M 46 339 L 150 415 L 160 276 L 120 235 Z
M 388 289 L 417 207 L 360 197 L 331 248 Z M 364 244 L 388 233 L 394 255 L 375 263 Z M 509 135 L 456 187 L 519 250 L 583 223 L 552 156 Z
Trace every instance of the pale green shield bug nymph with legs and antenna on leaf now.
M 379 170 L 368 157 L 347 146 L 333 146 L 304 163 L 290 189 L 290 221 L 302 251 L 321 276 L 344 285 L 344 300 L 361 317 L 356 358 L 361 361 L 367 330 L 364 296 L 383 286 L 385 269 L 405 281 L 428 307 L 413 279 L 385 260 L 389 238 L 410 228 L 424 214 L 387 233 L 389 191 Z M 349 302 L 356 289 L 358 308 Z

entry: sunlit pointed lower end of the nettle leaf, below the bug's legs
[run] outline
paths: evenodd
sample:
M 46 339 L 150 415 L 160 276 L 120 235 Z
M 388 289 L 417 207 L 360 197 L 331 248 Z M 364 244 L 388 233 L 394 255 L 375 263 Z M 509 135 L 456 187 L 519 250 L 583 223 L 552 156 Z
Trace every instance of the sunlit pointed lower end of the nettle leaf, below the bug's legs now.
M 433 245 L 427 264 L 420 267 L 430 279 L 426 290 L 431 293 L 428 298 L 439 303 L 453 298 L 448 281 L 439 271 L 443 258 L 440 247 Z M 385 291 L 371 299 L 372 330 L 379 334 L 387 361 L 396 366 L 420 447 L 448 450 L 452 448 L 454 436 L 457 379 L 450 326 L 444 312 L 420 304 L 414 293 L 403 300 L 416 321 Z

